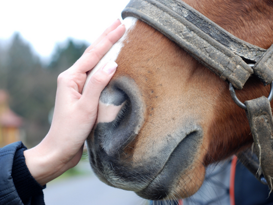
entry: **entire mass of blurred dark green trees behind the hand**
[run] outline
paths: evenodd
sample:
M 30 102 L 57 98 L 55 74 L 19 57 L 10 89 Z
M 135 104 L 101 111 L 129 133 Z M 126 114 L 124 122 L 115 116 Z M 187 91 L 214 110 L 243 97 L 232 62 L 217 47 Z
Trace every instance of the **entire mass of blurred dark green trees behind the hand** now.
M 0 90 L 9 93 L 10 108 L 23 117 L 28 148 L 37 145 L 50 128 L 48 116 L 54 107 L 57 76 L 71 67 L 87 47 L 85 42 L 67 39 L 56 45 L 45 65 L 19 33 L 8 45 L 0 44 Z

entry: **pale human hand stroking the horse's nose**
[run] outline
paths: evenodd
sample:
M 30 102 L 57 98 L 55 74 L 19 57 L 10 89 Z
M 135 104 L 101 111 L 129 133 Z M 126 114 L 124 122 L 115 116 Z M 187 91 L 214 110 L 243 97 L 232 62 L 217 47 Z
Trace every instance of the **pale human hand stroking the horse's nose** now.
M 85 92 L 82 89 L 87 72 L 124 34 L 125 27 L 120 24 L 116 20 L 71 68 L 58 76 L 51 128 L 39 145 L 24 151 L 30 173 L 42 186 L 76 166 L 81 158 L 83 144 L 97 117 L 100 93 L 114 75 L 117 64 L 102 66 L 92 75 Z

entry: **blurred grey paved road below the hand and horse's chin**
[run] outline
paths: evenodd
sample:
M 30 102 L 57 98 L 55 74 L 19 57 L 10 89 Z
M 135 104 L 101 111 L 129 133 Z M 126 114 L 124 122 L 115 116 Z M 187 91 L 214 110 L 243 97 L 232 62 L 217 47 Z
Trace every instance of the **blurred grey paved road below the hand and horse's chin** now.
M 145 205 L 134 192 L 109 187 L 96 176 L 76 176 L 48 183 L 46 205 Z

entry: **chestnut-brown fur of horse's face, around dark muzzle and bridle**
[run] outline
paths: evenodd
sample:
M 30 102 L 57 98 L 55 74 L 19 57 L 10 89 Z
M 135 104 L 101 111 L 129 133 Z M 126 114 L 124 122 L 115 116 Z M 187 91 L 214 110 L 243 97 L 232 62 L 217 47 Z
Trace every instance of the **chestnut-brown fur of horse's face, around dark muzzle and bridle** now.
M 273 44 L 272 0 L 184 2 L 250 44 L 265 49 Z M 116 62 L 119 66 L 112 81 L 122 76 L 134 79 L 146 107 L 140 131 L 119 153 L 119 160 L 130 162 L 130 169 L 153 154 L 160 155 L 162 142 L 171 143 L 173 133 L 188 120 L 202 127 L 194 161 L 176 179 L 167 197 L 194 194 L 202 185 L 207 165 L 253 142 L 245 111 L 230 97 L 228 84 L 152 27 L 138 20 Z M 244 89 L 236 92 L 244 101 L 267 96 L 269 87 L 251 77 Z

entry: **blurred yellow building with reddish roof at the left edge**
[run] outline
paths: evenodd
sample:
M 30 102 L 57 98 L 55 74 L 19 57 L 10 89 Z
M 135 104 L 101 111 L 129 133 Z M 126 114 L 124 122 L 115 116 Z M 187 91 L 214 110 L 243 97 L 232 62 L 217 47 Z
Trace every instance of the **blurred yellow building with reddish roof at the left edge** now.
M 22 118 L 12 112 L 8 99 L 8 93 L 0 90 L 0 147 L 21 140 Z

